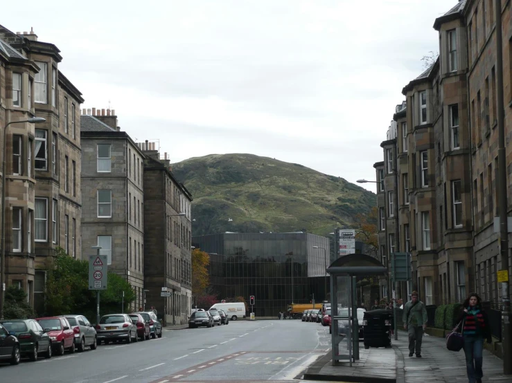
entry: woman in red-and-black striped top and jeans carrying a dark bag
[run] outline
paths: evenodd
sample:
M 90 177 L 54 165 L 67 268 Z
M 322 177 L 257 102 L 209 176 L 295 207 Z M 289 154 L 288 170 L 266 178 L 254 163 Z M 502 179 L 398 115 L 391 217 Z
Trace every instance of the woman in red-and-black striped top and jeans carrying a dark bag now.
M 475 292 L 472 292 L 462 304 L 457 322 L 460 321 L 469 383 L 482 383 L 484 339 L 491 343 L 493 338 L 487 314 L 482 308 L 482 299 Z

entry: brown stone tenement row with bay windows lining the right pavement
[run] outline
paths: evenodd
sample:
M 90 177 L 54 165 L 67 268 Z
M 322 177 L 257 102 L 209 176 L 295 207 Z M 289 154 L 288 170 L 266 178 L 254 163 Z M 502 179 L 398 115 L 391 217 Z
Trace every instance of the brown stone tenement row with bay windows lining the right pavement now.
M 497 216 L 493 6 L 493 1 L 463 0 L 435 20 L 439 57 L 403 88 L 405 102 L 396 107 L 381 144 L 384 161 L 374 165 L 382 261 L 393 252 L 412 256 L 412 283 L 398 286 L 399 297 L 418 290 L 425 303 L 441 304 L 464 300 L 476 290 L 486 301 L 499 299 L 500 244 L 493 229 Z M 511 3 L 502 1 L 502 8 L 504 47 L 511 53 Z M 512 54 L 504 57 L 509 104 Z M 512 113 L 506 106 L 505 129 L 508 143 Z M 506 161 L 510 212 L 509 153 Z M 387 295 L 386 286 L 382 294 Z

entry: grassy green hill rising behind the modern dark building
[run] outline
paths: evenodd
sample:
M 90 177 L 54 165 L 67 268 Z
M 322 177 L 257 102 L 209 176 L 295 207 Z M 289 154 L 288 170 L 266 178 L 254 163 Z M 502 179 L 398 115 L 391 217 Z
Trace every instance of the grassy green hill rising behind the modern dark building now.
M 211 154 L 172 169 L 194 198 L 194 236 L 296 231 L 327 235 L 335 227 L 350 227 L 357 213 L 368 213 L 376 205 L 375 194 L 343 178 L 252 154 Z

